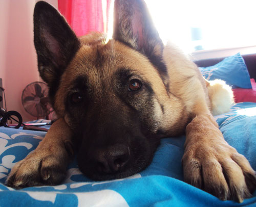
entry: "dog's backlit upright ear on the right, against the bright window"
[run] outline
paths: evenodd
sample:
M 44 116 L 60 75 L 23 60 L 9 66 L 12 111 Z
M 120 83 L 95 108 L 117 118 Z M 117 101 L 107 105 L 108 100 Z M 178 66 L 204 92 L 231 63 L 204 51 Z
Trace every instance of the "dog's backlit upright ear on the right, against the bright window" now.
M 143 0 L 115 0 L 113 39 L 140 51 L 151 61 L 162 57 L 163 43 Z

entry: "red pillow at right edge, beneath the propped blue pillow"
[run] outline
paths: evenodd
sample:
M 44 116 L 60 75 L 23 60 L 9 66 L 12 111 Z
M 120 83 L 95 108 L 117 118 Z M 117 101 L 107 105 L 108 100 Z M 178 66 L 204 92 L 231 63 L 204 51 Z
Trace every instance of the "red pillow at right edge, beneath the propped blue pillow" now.
M 251 80 L 251 89 L 234 88 L 234 102 L 256 102 L 256 83 L 254 79 Z

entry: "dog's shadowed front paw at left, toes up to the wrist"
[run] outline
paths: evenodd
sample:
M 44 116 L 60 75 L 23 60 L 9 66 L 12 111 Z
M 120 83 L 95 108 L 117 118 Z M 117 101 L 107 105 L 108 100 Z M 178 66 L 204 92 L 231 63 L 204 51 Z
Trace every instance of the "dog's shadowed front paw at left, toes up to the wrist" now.
M 12 168 L 6 185 L 20 189 L 31 186 L 57 185 L 66 176 L 65 162 L 59 154 L 35 151 Z

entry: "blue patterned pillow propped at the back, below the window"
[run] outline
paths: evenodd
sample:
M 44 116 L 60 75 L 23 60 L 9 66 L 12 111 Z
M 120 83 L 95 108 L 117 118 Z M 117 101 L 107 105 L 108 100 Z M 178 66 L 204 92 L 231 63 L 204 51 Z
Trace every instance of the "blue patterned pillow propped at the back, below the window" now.
M 250 76 L 240 53 L 210 67 L 200 67 L 206 80 L 220 79 L 232 88 L 251 88 Z

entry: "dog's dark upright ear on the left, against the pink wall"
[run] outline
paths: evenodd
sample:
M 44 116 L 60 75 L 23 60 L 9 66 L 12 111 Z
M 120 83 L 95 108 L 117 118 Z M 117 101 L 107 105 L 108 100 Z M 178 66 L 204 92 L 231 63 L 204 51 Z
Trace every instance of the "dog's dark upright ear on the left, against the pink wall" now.
M 65 18 L 46 2 L 35 5 L 34 44 L 40 76 L 49 85 L 58 81 L 79 48 Z

